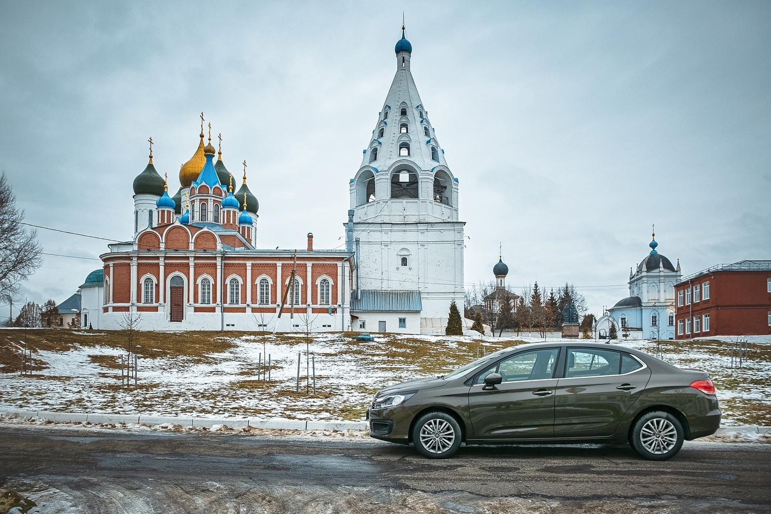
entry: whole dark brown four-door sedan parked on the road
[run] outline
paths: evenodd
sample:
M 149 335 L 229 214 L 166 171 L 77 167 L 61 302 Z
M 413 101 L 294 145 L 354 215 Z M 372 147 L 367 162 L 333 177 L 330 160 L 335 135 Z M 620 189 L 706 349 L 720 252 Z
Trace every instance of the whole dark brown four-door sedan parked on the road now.
M 665 460 L 720 425 L 705 371 L 579 341 L 522 344 L 375 395 L 370 435 L 432 459 L 467 444 L 629 442 Z

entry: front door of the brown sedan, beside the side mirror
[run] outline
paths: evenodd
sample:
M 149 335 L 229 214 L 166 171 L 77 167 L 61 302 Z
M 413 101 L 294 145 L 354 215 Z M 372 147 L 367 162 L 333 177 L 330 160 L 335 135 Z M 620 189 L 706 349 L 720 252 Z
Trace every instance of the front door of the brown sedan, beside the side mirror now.
M 552 437 L 558 354 L 558 347 L 522 351 L 475 375 L 469 391 L 473 438 Z M 500 385 L 485 387 L 490 373 L 501 375 Z

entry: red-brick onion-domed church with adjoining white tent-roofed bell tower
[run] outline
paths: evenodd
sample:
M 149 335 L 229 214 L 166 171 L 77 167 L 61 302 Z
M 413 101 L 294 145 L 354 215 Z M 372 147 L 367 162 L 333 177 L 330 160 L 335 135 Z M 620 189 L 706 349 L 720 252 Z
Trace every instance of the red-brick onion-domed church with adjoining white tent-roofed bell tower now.
M 449 305 L 463 313 L 463 225 L 449 170 L 396 42 L 396 76 L 362 163 L 349 183 L 345 248 L 268 250 L 257 197 L 227 170 L 211 125 L 168 191 L 153 166 L 133 181 L 134 233 L 109 244 L 82 284 L 82 326 L 141 330 L 444 333 Z M 214 160 L 215 153 L 217 160 Z

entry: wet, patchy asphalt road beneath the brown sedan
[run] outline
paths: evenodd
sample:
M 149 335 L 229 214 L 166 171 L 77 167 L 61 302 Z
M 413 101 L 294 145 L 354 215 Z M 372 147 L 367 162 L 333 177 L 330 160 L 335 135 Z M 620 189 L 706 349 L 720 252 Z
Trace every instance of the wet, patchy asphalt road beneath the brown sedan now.
M 771 512 L 771 445 L 462 447 L 0 428 L 0 488 L 40 512 Z

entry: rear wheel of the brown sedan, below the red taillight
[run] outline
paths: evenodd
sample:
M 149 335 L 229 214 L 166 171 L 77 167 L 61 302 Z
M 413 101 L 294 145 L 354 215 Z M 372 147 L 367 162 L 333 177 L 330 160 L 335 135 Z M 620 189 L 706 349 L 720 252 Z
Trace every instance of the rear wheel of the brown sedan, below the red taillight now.
M 629 444 L 643 459 L 665 461 L 677 455 L 684 439 L 685 431 L 678 418 L 654 411 L 638 418 L 631 429 Z

